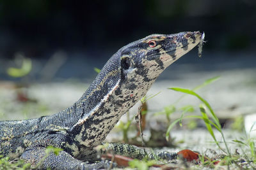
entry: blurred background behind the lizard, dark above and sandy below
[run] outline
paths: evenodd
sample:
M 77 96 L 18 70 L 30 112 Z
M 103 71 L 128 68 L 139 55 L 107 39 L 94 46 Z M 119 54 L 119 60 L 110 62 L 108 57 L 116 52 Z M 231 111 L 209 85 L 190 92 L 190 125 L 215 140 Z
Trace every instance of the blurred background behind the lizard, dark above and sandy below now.
M 202 58 L 194 49 L 166 69 L 149 92 L 162 91 L 149 109 L 161 111 L 177 99 L 168 87 L 192 89 L 221 76 L 200 91 L 218 115 L 256 113 L 255 0 L 16 0 L 0 2 L 1 119 L 71 106 L 97 75 L 95 67 L 119 48 L 149 34 L 182 31 L 205 32 Z

